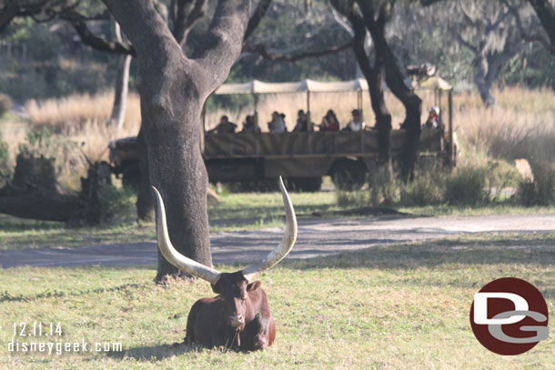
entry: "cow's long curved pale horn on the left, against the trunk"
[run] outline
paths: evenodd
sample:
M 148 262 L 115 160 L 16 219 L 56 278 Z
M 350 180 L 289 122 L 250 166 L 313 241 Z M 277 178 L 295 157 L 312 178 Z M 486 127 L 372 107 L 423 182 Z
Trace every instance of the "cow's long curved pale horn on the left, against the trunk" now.
M 197 261 L 193 261 L 185 255 L 181 255 L 177 252 L 176 248 L 174 248 L 174 245 L 171 244 L 169 235 L 167 235 L 164 201 L 156 187 L 152 186 L 152 188 L 156 195 L 156 235 L 158 236 L 158 247 L 160 248 L 160 252 L 166 257 L 167 262 L 175 265 L 178 269 L 185 271 L 187 274 L 207 280 L 207 282 L 211 284 L 216 284 L 219 279 L 219 272 L 217 270 L 199 264 Z

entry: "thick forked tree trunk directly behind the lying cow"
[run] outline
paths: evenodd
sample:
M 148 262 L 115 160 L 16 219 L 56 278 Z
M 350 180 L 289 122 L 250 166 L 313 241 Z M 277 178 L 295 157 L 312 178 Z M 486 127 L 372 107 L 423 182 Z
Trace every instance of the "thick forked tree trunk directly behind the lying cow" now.
M 220 0 L 203 45 L 187 58 L 149 0 L 103 0 L 136 49 L 150 183 L 166 201 L 169 236 L 183 255 L 212 265 L 200 114 L 241 51 L 250 2 Z M 158 254 L 156 281 L 183 276 Z

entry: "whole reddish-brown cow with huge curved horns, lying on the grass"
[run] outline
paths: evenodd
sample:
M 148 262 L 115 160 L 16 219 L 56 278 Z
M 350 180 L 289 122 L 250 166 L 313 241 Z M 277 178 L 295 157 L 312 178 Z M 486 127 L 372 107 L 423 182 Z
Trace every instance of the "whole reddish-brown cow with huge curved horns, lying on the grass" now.
M 227 346 L 253 351 L 272 345 L 276 323 L 270 313 L 267 295 L 255 281 L 257 275 L 277 265 L 291 251 L 297 240 L 297 218 L 288 192 L 279 178 L 286 214 L 285 235 L 266 257 L 235 273 L 220 273 L 179 254 L 169 240 L 166 211 L 162 196 L 156 195 L 156 234 L 166 260 L 190 275 L 206 280 L 217 295 L 199 299 L 187 317 L 187 343 L 207 347 Z

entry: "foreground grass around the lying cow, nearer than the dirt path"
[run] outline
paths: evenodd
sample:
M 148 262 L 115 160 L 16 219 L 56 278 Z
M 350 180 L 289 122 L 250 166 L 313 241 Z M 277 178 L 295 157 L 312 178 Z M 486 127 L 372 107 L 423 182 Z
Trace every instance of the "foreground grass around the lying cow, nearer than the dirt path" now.
M 276 343 L 248 354 L 171 346 L 184 336 L 190 305 L 213 295 L 205 282 L 157 286 L 154 266 L 1 270 L 0 368 L 554 368 L 553 336 L 503 357 L 469 327 L 472 296 L 501 276 L 536 285 L 553 312 L 554 242 L 552 233 L 469 235 L 285 261 L 261 276 Z M 125 351 L 7 353 L 14 322 L 58 321 L 63 342 L 121 342 Z

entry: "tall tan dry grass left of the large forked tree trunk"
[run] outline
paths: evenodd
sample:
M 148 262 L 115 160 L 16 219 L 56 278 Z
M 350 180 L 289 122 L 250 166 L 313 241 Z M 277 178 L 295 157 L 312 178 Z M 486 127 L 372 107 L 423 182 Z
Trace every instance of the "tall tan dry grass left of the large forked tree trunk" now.
M 136 94 L 127 97 L 126 117 L 122 130 L 106 125 L 111 115 L 114 94 L 70 95 L 61 99 L 30 100 L 25 103 L 28 125 L 17 122 L 3 124 L 9 145 L 10 166 L 15 165 L 19 145 L 25 144 L 29 130 L 47 127 L 56 136 L 50 146 L 40 148 L 43 155 L 56 158 L 58 179 L 67 188 L 78 189 L 79 178 L 86 175 L 88 158 L 92 162 L 108 160 L 108 143 L 132 136 L 140 128 L 140 104 Z

